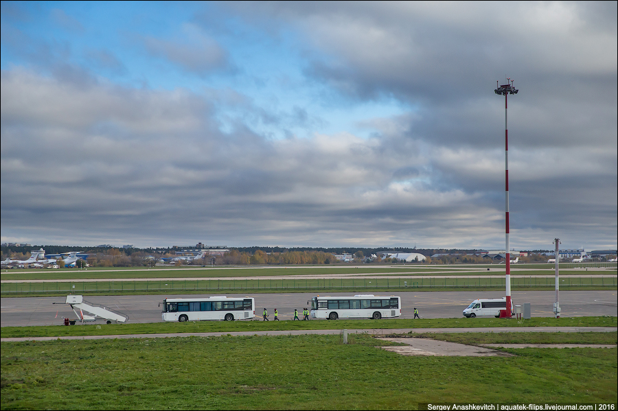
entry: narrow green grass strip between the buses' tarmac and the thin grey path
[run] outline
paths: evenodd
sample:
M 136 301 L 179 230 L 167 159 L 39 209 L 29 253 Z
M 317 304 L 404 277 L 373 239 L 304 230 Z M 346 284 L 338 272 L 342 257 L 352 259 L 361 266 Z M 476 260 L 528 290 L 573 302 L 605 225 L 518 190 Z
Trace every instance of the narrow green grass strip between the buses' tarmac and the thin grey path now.
M 598 317 L 535 317 L 528 320 L 498 318 L 431 318 L 422 320 L 311 320 L 311 321 L 198 321 L 153 322 L 110 325 L 48 325 L 43 327 L 2 327 L 2 338 L 105 336 L 150 333 L 215 333 L 238 331 L 290 331 L 305 329 L 367 329 L 397 328 L 470 328 L 470 327 L 616 327 L 618 318 Z

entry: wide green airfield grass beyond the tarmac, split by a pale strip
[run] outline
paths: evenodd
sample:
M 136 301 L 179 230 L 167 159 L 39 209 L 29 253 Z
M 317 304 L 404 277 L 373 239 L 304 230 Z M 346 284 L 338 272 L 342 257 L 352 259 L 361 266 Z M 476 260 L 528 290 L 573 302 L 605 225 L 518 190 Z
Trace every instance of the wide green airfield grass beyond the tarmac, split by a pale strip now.
M 439 268 L 439 270 L 436 270 Z M 494 271 L 491 271 L 494 270 Z M 1 295 L 59 296 L 81 294 L 188 294 L 209 292 L 401 292 L 409 290 L 461 291 L 497 290 L 505 287 L 500 268 L 490 271 L 478 266 L 406 266 L 402 268 L 372 266 L 371 268 L 309 267 L 309 268 L 204 268 L 159 270 L 71 270 L 50 272 L 3 272 Z M 439 271 L 439 272 L 438 272 Z M 616 290 L 613 270 L 562 270 L 564 290 Z M 300 278 L 347 274 L 340 278 Z M 363 277 L 354 277 L 357 274 Z M 547 277 L 551 270 L 527 268 L 512 272 L 512 290 L 553 290 L 555 280 Z M 541 277 L 541 276 L 546 277 Z M 255 279 L 255 277 L 268 279 Z M 292 278 L 281 278 L 282 276 Z M 371 276 L 372 278 L 368 278 Z M 386 277 L 396 278 L 386 278 Z M 459 278 L 455 278 L 455 276 Z M 190 279 L 185 279 L 189 277 Z M 226 279 L 236 277 L 236 279 Z M 240 279 L 238 279 L 240 277 Z M 130 279 L 119 281 L 119 279 Z M 146 281 L 142 279 L 148 279 Z M 45 283 L 33 282 L 46 280 Z M 58 281 L 54 281 L 58 280 Z M 74 280 L 74 281 L 67 281 Z M 86 281 L 89 280 L 89 281 Z

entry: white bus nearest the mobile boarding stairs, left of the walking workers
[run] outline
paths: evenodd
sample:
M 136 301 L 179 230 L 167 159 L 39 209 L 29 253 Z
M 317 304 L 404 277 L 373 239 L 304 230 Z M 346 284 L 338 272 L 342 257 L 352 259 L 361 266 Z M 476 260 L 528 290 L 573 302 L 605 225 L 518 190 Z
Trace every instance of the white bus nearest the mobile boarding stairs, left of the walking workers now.
M 249 320 L 255 316 L 251 297 L 165 298 L 163 321 Z

